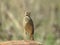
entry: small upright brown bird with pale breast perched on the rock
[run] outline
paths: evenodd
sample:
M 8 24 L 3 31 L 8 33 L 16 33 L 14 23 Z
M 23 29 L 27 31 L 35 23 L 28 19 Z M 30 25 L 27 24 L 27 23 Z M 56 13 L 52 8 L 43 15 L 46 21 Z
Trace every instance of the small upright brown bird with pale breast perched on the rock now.
M 30 15 L 31 12 L 25 12 L 23 19 L 24 38 L 26 39 L 26 35 L 29 34 L 30 40 L 34 40 L 34 24 Z

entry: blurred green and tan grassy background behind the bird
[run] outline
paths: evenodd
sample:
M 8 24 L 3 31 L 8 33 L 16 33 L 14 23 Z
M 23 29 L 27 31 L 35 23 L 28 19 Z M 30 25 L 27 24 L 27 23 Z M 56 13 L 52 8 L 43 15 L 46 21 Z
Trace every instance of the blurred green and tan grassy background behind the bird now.
M 60 45 L 60 0 L 0 0 L 0 41 L 23 40 L 25 11 L 31 11 L 35 41 Z

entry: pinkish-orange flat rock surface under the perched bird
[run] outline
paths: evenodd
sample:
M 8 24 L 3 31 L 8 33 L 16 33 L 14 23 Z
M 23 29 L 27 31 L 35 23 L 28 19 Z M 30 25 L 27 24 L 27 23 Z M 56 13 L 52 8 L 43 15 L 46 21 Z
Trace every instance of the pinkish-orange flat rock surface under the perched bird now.
M 6 42 L 0 42 L 0 45 L 42 45 L 40 42 L 36 41 L 6 41 Z

